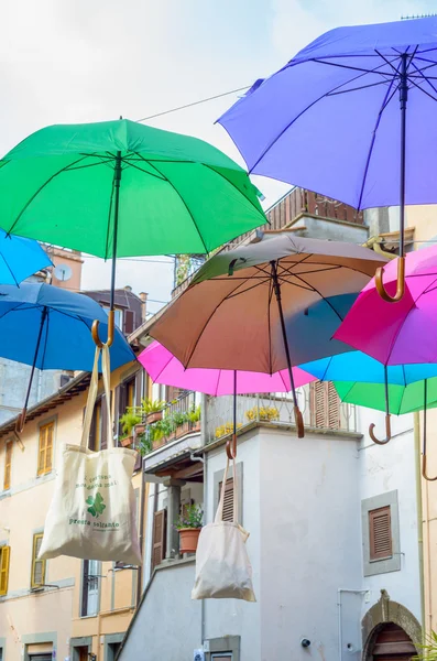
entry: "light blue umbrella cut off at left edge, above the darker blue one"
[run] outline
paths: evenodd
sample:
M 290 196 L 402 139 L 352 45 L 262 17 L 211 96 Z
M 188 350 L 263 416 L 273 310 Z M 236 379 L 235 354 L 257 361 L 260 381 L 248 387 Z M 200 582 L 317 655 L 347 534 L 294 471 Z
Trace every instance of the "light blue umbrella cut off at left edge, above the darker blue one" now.
M 0 283 L 20 284 L 52 262 L 37 241 L 7 235 L 0 229 Z

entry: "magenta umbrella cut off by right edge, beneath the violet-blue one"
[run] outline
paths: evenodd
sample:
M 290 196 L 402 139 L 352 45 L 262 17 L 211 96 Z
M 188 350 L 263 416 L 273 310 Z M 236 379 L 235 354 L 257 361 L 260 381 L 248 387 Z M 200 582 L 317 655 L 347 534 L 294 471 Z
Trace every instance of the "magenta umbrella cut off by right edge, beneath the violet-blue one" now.
M 396 262 L 384 267 L 387 292 L 396 291 Z M 375 279 L 359 294 L 336 339 L 364 351 L 385 366 L 437 362 L 437 246 L 411 252 L 405 258 L 405 295 L 396 303 L 381 299 Z M 386 438 L 390 410 L 386 394 Z M 378 440 L 370 431 L 373 441 Z

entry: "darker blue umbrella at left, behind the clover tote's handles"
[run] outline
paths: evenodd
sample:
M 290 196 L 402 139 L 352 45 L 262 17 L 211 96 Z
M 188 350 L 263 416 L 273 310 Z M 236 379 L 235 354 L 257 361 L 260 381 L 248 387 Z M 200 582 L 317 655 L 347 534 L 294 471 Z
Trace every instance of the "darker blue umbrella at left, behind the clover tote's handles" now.
M 24 424 L 35 368 L 91 371 L 95 319 L 108 330 L 107 313 L 89 296 L 50 284 L 0 285 L 0 356 L 32 366 L 19 430 Z M 118 328 L 110 356 L 113 369 L 135 359 Z

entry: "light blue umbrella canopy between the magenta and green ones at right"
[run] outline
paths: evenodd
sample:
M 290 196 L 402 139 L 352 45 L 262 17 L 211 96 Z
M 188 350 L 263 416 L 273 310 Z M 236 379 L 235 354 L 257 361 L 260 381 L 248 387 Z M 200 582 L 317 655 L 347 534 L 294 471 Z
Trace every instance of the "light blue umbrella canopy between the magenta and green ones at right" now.
M 385 383 L 404 387 L 415 381 L 437 377 L 436 365 L 398 365 L 385 366 L 361 351 L 349 351 L 301 366 L 303 370 L 314 375 L 320 381 L 359 381 L 368 383 Z

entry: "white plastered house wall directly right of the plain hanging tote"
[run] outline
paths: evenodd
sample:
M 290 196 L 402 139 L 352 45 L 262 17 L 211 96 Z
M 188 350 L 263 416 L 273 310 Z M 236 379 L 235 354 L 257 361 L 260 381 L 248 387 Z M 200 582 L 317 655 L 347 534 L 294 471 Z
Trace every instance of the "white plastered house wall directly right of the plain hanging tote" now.
M 261 659 L 308 659 L 304 637 L 315 658 L 338 659 L 337 590 L 360 587 L 358 443 L 266 430 L 260 436 Z M 352 607 L 357 642 L 360 613 Z

